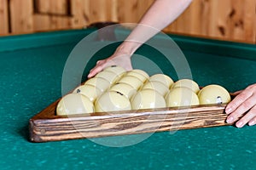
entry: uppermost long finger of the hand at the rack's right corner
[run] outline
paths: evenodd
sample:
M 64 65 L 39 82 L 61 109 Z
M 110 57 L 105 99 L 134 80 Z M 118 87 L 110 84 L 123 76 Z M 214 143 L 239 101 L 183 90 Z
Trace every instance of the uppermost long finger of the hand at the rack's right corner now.
M 240 94 L 236 96 L 235 99 L 233 99 L 225 108 L 225 112 L 227 114 L 232 113 L 233 111 L 236 111 L 236 109 L 249 97 L 253 95 L 253 90 L 251 89 L 245 89 Z

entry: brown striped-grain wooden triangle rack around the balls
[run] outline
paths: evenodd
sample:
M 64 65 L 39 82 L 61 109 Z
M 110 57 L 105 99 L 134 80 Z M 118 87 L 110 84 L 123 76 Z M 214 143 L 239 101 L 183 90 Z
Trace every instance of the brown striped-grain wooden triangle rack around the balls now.
M 230 125 L 225 104 L 56 116 L 60 99 L 29 121 L 30 140 L 49 142 Z

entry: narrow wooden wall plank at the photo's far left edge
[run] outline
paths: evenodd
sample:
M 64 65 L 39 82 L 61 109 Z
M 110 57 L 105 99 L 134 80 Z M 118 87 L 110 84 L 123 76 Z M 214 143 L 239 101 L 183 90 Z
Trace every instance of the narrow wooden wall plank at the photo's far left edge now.
M 9 33 L 9 8 L 7 0 L 0 0 L 0 34 Z

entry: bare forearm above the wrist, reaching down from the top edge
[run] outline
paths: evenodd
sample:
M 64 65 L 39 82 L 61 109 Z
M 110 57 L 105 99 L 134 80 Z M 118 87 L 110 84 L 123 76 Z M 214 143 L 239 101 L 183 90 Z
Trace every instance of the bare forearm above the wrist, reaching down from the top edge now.
M 191 2 L 192 0 L 156 0 L 116 52 L 133 54 L 144 42 L 176 20 Z

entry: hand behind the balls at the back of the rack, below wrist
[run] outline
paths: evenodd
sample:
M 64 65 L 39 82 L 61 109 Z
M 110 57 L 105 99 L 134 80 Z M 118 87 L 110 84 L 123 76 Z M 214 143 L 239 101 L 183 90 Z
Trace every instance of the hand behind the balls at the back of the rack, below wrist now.
M 104 68 L 110 65 L 119 65 L 126 71 L 131 71 L 131 54 L 121 54 L 119 52 L 115 52 L 108 59 L 98 60 L 96 62 L 96 66 L 90 70 L 88 78 L 94 77 L 98 72 L 102 71 Z

